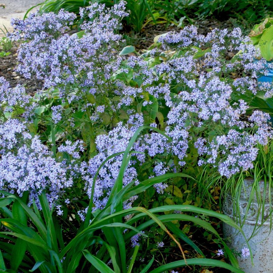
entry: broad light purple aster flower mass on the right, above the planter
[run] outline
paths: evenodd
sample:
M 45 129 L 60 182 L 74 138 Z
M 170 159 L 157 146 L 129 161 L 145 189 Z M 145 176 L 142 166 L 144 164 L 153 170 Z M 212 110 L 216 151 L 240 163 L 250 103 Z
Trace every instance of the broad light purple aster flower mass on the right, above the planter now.
M 230 177 L 251 168 L 258 151 L 257 143 L 265 145 L 272 135 L 268 114 L 254 111 L 249 119 L 244 118 L 248 101 L 254 95 L 271 94 L 272 84 L 257 84 L 258 75 L 266 74 L 266 61 L 255 59 L 255 47 L 238 28 L 231 33 L 215 29 L 204 36 L 198 35 L 197 29 L 191 26 L 180 33 L 169 32 L 159 41 L 165 51 L 177 51 L 168 56 L 165 51 L 152 50 L 150 54 L 154 58 L 158 55 L 166 58 L 153 67 L 140 57 L 129 57 L 127 66 L 130 72 L 134 71 L 132 79 L 141 78 L 142 86 L 123 88 L 119 107 L 133 104 L 133 97 L 143 98 L 140 102 L 143 106 L 152 103 L 144 97 L 143 90 L 158 100 L 164 99 L 170 108 L 165 131 L 173 139 L 171 151 L 178 156 L 181 166 L 185 164 L 183 159 L 189 146 L 194 144 L 201 156 L 198 165 L 217 166 L 221 175 Z M 226 52 L 236 50 L 239 52 L 231 61 L 223 58 Z M 247 76 L 236 80 L 228 76 L 241 70 Z M 234 99 L 238 94 L 247 95 L 248 101 L 240 96 Z M 208 128 L 214 135 L 208 135 Z M 149 155 L 160 151 L 156 143 L 151 146 L 153 154 Z

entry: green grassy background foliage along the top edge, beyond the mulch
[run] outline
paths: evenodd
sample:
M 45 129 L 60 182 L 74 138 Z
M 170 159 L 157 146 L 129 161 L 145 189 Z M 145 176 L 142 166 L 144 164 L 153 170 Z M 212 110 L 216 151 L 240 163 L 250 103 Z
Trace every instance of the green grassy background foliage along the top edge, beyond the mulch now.
M 79 8 L 88 6 L 89 2 L 87 0 L 46 0 L 32 8 L 41 6 L 40 9 L 43 12 L 58 12 L 63 8 L 66 11 L 79 14 Z M 99 2 L 111 7 L 119 1 L 93 0 L 91 2 Z M 247 28 L 250 28 L 251 24 L 258 23 L 271 14 L 273 4 L 270 0 L 128 0 L 126 8 L 131 13 L 124 20 L 125 29 L 139 33 L 147 24 L 172 23 L 184 26 L 184 19 L 192 23 L 192 19 L 211 16 L 220 19 L 235 18 L 239 25 L 246 25 Z

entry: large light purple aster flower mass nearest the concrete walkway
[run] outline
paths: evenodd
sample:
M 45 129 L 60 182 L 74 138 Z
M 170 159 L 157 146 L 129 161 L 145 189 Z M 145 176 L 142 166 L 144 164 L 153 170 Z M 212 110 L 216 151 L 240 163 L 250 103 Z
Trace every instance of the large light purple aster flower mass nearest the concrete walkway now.
M 113 60 L 121 35 L 115 34 L 122 17 L 127 16 L 125 3 L 110 9 L 92 4 L 81 8 L 82 33 L 69 34 L 69 25 L 76 17 L 60 10 L 58 14 L 35 13 L 25 21 L 14 20 L 16 36 L 25 41 L 18 50 L 16 71 L 29 78 L 35 74 L 44 79 L 45 88 L 59 87 L 68 102 L 77 101 L 85 92 L 95 94 L 108 85 L 111 72 L 120 60 Z M 70 87 L 73 91 L 70 90 Z M 111 86 L 108 86 L 111 88 Z

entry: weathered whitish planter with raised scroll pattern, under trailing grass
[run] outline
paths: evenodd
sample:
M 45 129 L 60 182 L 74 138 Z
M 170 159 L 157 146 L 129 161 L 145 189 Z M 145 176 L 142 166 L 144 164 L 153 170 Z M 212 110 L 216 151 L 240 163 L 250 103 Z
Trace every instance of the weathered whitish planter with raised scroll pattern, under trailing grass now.
M 251 192 L 253 179 L 245 179 L 245 188 L 246 193 L 242 190 L 240 195 L 240 216 L 241 219 L 244 218 L 246 214 L 246 207 L 247 201 L 246 197 L 248 198 Z M 260 181 L 259 188 L 261 192 L 261 196 L 264 193 L 264 181 Z M 264 210 L 264 217 L 268 217 L 270 215 L 270 205 L 269 205 L 269 198 L 271 198 L 273 202 L 273 189 L 271 188 L 271 197 L 269 197 L 269 190 L 268 185 L 266 188 L 266 199 L 265 199 L 265 210 Z M 248 243 L 251 247 L 251 251 L 253 254 L 253 261 L 254 266 L 251 264 L 250 257 L 239 257 L 238 263 L 240 268 L 245 271 L 246 273 L 273 273 L 273 231 L 269 234 L 270 229 L 270 218 L 268 218 L 265 223 L 261 225 L 261 211 L 258 213 L 258 201 L 256 197 L 254 198 L 253 203 L 250 206 L 250 209 L 247 212 L 246 221 L 242 227 L 242 230 L 245 233 L 246 238 L 248 239 Z M 223 205 L 223 212 L 224 214 L 228 215 L 229 217 L 233 218 L 233 199 L 231 196 L 228 196 Z M 258 218 L 258 226 L 259 230 L 257 235 L 249 240 L 252 235 L 252 232 L 255 227 L 256 219 Z M 273 217 L 271 215 L 273 220 Z M 229 247 L 236 249 L 236 251 L 241 252 L 241 249 L 247 247 L 244 237 L 241 234 L 237 234 L 234 228 L 223 224 L 223 233 L 225 238 L 230 238 L 229 242 L 227 243 Z

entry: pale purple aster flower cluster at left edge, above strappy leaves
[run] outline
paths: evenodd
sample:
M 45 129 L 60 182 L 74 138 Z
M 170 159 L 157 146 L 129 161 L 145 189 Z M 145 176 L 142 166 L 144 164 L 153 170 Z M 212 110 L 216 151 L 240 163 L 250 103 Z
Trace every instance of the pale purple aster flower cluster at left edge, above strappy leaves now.
M 26 125 L 17 119 L 8 119 L 0 125 L 0 188 L 22 195 L 30 192 L 37 200 L 37 194 L 46 191 L 52 205 L 62 195 L 63 189 L 71 187 L 72 177 L 67 167 L 52 158 L 52 152 L 38 139 L 29 134 Z

